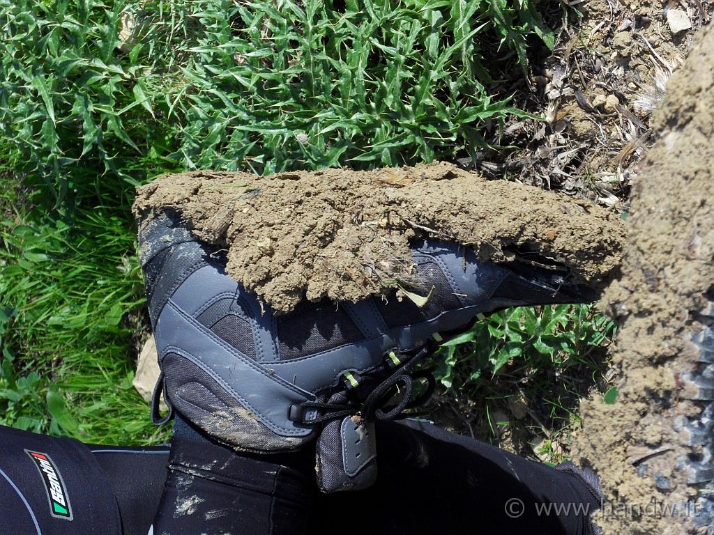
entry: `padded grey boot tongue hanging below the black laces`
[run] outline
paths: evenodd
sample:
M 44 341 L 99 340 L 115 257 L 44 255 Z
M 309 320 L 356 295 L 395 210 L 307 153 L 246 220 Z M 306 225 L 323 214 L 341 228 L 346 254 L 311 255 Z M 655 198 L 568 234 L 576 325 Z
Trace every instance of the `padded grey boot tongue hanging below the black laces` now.
M 361 490 L 377 479 L 374 424 L 359 416 L 327 422 L 316 444 L 317 484 L 325 494 Z

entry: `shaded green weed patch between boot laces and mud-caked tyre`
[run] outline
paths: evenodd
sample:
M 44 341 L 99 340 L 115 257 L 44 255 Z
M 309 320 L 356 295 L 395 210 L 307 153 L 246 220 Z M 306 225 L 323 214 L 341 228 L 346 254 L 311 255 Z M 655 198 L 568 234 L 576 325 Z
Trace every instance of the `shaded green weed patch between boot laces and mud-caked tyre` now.
M 580 399 L 608 387 L 605 348 L 614 335 L 614 322 L 590 305 L 496 312 L 443 345 L 431 363 L 438 399 L 461 414 L 454 430 L 501 444 L 508 426 L 518 430 L 509 447 L 532 453 L 528 442 L 538 436 L 545 449 L 537 455 L 560 462 L 580 427 Z

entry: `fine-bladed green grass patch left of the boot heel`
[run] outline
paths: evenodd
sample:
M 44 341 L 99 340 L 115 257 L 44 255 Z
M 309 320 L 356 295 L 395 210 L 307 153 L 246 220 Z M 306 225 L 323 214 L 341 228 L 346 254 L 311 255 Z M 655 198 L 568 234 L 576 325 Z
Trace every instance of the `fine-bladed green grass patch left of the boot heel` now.
M 86 442 L 162 442 L 166 429 L 131 386 L 145 298 L 128 206 L 62 220 L 28 211 L 21 193 L 0 203 L 2 421 Z

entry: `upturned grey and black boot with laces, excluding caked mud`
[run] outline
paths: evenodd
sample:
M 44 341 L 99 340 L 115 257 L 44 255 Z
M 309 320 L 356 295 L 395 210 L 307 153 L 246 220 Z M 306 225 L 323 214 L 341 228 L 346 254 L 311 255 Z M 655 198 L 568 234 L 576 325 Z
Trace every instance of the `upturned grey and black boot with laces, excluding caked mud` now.
M 246 452 L 294 450 L 317 438 L 326 492 L 371 484 L 371 422 L 426 400 L 433 377 L 412 368 L 477 315 L 594 297 L 562 271 L 481 263 L 456 243 L 423 240 L 413 248 L 422 306 L 391 292 L 339 305 L 304 301 L 276 315 L 226 274 L 222 253 L 198 242 L 178 216 L 144 223 L 139 239 L 161 366 L 155 421 L 176 410 Z M 426 392 L 413 396 L 417 380 Z M 164 418 L 161 392 L 170 407 Z

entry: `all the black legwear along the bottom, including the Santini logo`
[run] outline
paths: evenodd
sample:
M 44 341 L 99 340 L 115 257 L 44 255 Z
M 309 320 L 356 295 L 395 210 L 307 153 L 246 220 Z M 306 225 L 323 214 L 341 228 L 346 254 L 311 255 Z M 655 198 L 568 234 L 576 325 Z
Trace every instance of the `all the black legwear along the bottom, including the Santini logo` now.
M 180 421 L 171 448 L 0 427 L 0 533 L 579 535 L 583 512 L 599 506 L 568 474 L 428 422 L 385 422 L 376 434 L 377 483 L 324 495 L 309 449 L 236 454 Z M 573 507 L 539 514 L 549 503 Z

